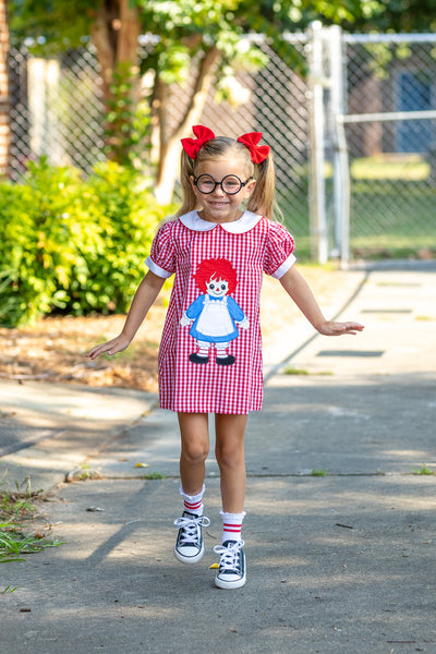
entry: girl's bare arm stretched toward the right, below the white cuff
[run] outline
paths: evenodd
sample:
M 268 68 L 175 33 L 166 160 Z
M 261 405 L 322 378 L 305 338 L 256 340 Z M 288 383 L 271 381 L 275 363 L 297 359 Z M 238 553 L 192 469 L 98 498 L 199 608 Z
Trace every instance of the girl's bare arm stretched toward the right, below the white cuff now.
M 280 279 L 280 283 L 295 302 L 307 320 L 324 336 L 341 336 L 343 334 L 356 334 L 364 328 L 360 323 L 337 323 L 327 320 L 316 302 L 311 288 L 304 277 L 292 266 Z

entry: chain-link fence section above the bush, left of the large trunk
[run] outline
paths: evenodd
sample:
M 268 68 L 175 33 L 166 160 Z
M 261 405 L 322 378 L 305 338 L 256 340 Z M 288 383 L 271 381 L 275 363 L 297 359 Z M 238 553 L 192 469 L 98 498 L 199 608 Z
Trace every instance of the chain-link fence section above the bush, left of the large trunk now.
M 11 178 L 28 160 L 85 172 L 105 158 L 104 106 L 94 48 L 69 50 L 57 59 L 10 52 Z

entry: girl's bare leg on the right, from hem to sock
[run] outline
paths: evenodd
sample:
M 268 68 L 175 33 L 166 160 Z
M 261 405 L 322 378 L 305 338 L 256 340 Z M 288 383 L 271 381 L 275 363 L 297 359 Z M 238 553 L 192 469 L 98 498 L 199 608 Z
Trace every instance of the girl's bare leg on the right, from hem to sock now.
M 215 416 L 215 453 L 221 477 L 222 510 L 241 513 L 245 499 L 244 433 L 246 415 Z

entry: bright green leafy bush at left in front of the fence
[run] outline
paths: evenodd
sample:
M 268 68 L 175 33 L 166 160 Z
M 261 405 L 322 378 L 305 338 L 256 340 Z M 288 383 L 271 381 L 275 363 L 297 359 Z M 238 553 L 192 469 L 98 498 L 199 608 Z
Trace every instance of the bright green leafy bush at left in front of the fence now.
M 21 184 L 0 183 L 0 323 L 53 312 L 125 312 L 166 210 L 131 168 L 31 164 Z

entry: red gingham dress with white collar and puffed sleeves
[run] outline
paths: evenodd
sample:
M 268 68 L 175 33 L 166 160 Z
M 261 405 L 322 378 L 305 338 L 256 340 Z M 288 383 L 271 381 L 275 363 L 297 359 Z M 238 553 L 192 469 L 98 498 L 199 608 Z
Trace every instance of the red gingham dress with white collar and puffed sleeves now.
M 159 277 L 175 274 L 159 349 L 162 409 L 226 414 L 261 410 L 263 272 L 280 278 L 295 261 L 293 250 L 293 239 L 282 225 L 251 211 L 225 225 L 203 220 L 197 211 L 191 211 L 159 229 L 146 264 Z M 221 301 L 210 299 L 206 284 L 198 288 L 195 280 L 198 266 L 205 259 L 226 259 L 226 265 L 230 264 L 235 271 L 235 289 L 229 289 Z M 216 275 L 213 281 L 222 281 L 223 277 L 223 274 Z M 211 312 L 209 318 L 198 317 L 205 307 Z M 196 318 L 192 317 L 195 311 Z M 193 336 L 195 324 L 197 330 Z M 218 324 L 220 328 L 216 327 Z M 198 336 L 202 329 L 206 336 Z M 199 340 L 207 341 L 207 363 L 204 359 L 202 363 L 198 358 L 195 360 Z M 222 344 L 222 341 L 227 342 Z M 225 365 L 217 363 L 220 344 L 228 356 Z

